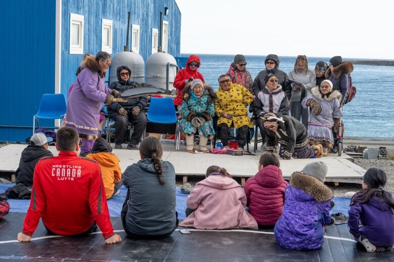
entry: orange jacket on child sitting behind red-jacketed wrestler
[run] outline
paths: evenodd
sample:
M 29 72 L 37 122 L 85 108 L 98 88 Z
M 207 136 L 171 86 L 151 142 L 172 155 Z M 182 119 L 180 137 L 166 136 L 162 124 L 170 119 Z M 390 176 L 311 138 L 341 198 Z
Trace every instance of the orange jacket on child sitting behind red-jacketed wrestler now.
M 107 199 L 111 198 L 114 194 L 114 183 L 119 182 L 122 178 L 119 158 L 108 152 L 90 153 L 86 158 L 93 159 L 100 164 L 106 197 Z

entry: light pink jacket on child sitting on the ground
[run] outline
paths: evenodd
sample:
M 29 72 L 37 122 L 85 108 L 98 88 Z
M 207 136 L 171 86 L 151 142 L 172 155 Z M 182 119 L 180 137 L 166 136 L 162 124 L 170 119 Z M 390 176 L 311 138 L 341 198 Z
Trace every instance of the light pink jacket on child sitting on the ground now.
M 198 229 L 257 229 L 256 220 L 245 211 L 245 192 L 229 177 L 210 175 L 196 183 L 186 205 L 195 209 L 179 225 Z

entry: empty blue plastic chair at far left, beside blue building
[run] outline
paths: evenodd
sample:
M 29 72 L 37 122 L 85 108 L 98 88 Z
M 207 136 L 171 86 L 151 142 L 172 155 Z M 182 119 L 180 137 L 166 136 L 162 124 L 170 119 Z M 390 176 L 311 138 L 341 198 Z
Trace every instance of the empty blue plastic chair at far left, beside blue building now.
M 35 130 L 35 119 L 37 118 L 37 127 L 40 127 L 38 118 L 59 119 L 66 114 L 66 99 L 63 94 L 43 94 L 41 97 L 38 112 L 33 115 L 33 135 Z

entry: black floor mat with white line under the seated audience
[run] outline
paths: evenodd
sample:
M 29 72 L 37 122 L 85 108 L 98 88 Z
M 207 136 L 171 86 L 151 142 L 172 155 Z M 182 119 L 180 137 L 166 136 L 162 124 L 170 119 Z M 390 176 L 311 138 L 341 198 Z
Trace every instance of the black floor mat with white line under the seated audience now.
M 106 245 L 99 234 L 80 238 L 57 237 L 15 241 L 22 229 L 25 213 L 10 213 L 0 219 L 0 260 L 34 259 L 34 261 L 394 261 L 394 252 L 367 253 L 357 243 L 326 238 L 319 250 L 302 251 L 280 247 L 272 229 L 260 233 L 242 231 L 174 232 L 162 240 L 127 239 Z M 111 218 L 115 230 L 123 230 L 120 218 Z M 257 230 L 256 230 L 257 231 Z M 266 233 L 262 233 L 266 232 Z M 347 226 L 328 226 L 329 237 L 351 239 Z M 47 236 L 42 223 L 33 238 Z

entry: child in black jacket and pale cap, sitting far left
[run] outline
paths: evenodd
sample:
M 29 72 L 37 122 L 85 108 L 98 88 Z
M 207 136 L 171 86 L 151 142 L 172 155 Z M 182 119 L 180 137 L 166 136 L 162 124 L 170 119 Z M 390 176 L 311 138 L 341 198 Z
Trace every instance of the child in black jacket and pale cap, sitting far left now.
M 30 145 L 22 151 L 19 167 L 15 171 L 16 183 L 24 186 L 33 185 L 35 165 L 42 157 L 52 157 L 48 150 L 48 142 L 43 133 L 36 133 L 30 138 Z

